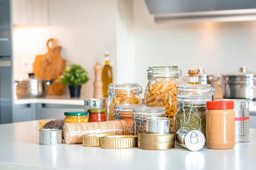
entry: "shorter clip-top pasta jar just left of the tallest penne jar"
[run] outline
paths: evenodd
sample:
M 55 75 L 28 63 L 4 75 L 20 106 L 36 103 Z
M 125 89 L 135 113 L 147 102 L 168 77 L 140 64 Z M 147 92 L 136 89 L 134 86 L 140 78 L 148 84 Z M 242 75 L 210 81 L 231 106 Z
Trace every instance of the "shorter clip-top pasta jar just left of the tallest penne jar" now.
M 114 107 L 120 104 L 141 104 L 142 88 L 138 83 L 110 83 L 108 85 L 107 120 L 115 120 Z

